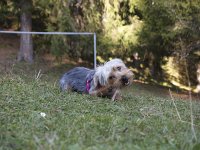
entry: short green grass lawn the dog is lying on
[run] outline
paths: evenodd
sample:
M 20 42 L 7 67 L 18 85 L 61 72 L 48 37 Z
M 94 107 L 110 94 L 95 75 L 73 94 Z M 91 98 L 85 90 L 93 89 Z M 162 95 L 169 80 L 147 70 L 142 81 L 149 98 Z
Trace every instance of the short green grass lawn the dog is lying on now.
M 61 72 L 36 79 L 38 68 L 19 64 L 0 76 L 0 149 L 200 149 L 199 102 L 193 101 L 195 140 L 187 100 L 175 98 L 181 121 L 170 96 L 136 85 L 117 102 L 63 93 Z

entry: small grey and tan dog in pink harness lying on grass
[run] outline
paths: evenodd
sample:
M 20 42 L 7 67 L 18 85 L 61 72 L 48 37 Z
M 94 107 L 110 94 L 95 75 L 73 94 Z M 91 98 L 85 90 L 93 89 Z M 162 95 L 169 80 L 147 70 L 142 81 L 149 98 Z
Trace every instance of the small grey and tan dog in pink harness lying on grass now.
M 120 100 L 121 89 L 133 82 L 133 72 L 121 59 L 115 58 L 95 70 L 75 67 L 66 72 L 59 82 L 62 91 L 75 91 Z

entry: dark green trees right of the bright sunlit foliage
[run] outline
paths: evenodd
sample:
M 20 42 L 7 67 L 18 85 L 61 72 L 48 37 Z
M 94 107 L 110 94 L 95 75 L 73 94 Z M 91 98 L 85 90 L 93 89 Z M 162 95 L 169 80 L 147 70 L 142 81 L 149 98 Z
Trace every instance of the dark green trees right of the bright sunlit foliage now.
M 138 33 L 139 44 L 135 50 L 143 60 L 142 70 L 148 70 L 150 77 L 171 82 L 170 76 L 174 74 L 168 74 L 161 66 L 168 63 L 166 58 L 172 56 L 175 57 L 173 64 L 177 66 L 168 66 L 167 69 L 179 72 L 175 81 L 188 85 L 188 70 L 189 80 L 196 85 L 196 66 L 199 63 L 196 52 L 200 48 L 198 2 L 144 0 L 141 3 L 144 24 Z

